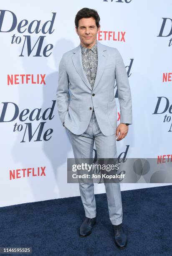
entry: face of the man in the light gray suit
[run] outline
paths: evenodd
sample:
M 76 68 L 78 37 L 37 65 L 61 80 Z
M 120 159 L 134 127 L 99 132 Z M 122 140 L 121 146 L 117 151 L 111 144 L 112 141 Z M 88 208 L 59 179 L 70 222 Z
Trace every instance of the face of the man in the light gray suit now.
M 97 28 L 96 21 L 93 17 L 82 18 L 78 22 L 78 29 L 76 33 L 79 35 L 81 44 L 85 47 L 91 48 L 97 40 L 97 33 L 100 31 L 100 26 Z

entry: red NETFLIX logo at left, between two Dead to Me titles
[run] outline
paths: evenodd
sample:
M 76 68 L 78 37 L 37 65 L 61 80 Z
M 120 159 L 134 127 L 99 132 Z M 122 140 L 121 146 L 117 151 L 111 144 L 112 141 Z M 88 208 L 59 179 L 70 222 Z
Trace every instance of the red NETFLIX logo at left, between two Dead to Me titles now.
M 7 84 L 44 84 L 46 74 L 8 74 Z

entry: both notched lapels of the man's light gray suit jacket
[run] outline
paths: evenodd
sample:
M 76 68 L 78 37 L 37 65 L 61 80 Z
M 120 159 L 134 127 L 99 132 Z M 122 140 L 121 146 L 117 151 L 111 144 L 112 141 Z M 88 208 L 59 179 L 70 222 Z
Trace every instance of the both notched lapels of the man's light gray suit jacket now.
M 98 54 L 98 65 L 97 65 L 97 73 L 96 73 L 96 79 L 94 82 L 93 90 L 95 90 L 95 87 L 99 83 L 99 80 L 104 72 L 104 68 L 106 66 L 106 61 L 107 61 L 106 46 L 101 44 L 99 41 L 97 41 L 97 54 Z M 86 77 L 86 74 L 83 70 L 80 44 L 73 50 L 72 61 L 76 68 L 76 71 L 80 75 L 81 79 L 92 91 L 91 85 L 90 85 L 90 83 Z

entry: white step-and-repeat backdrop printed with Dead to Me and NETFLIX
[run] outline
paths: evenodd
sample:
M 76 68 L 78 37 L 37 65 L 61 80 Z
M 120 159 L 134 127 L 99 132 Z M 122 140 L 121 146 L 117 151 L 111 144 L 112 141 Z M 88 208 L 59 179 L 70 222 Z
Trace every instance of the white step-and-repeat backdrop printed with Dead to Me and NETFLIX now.
M 84 7 L 99 13 L 97 40 L 119 50 L 129 77 L 133 124 L 116 141 L 118 155 L 172 158 L 171 0 L 2 0 L 0 206 L 80 195 L 78 184 L 67 183 L 73 151 L 56 89 L 63 53 L 80 43 L 74 19 Z M 116 104 L 119 113 L 117 98 Z M 163 182 L 121 184 L 121 190 Z M 95 194 L 102 192 L 104 184 L 95 184 Z

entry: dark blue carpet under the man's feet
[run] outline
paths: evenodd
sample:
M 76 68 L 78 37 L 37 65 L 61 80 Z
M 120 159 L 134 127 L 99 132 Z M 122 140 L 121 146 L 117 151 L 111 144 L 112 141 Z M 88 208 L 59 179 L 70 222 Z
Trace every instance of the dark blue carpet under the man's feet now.
M 114 244 L 106 194 L 95 195 L 97 223 L 86 238 L 78 236 L 84 219 L 81 197 L 1 207 L 0 247 L 30 246 L 28 255 L 34 256 L 171 256 L 172 186 L 122 191 L 121 195 L 123 225 L 129 236 L 122 251 Z

